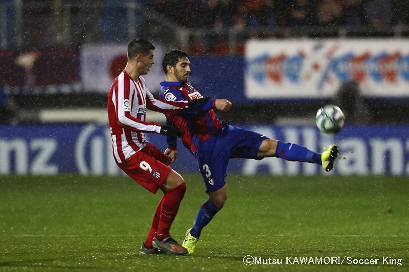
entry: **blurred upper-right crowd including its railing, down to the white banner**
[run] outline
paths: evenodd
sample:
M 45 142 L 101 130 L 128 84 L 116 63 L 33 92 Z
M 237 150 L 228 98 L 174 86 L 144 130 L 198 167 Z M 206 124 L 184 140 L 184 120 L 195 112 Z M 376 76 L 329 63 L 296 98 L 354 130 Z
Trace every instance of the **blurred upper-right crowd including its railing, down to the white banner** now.
M 191 30 L 187 48 L 191 54 L 240 54 L 247 39 L 280 38 L 285 35 L 285 29 L 325 29 L 320 33 L 312 30 L 301 34 L 310 37 L 338 36 L 339 27 L 352 30 L 349 36 L 387 36 L 395 27 L 407 32 L 409 22 L 409 0 L 150 0 L 145 3 L 156 14 Z M 376 31 L 368 33 L 370 30 L 362 31 L 362 28 Z M 232 37 L 236 48 L 231 48 Z

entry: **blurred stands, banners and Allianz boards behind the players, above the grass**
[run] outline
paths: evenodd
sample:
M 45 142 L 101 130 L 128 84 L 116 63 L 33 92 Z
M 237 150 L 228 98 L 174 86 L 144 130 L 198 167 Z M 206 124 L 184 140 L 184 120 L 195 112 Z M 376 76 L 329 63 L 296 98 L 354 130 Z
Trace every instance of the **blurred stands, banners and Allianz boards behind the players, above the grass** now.
M 338 174 L 408 175 L 408 7 L 407 0 L 1 0 L 0 174 L 118 174 L 106 93 L 126 63 L 127 42 L 143 37 L 157 48 L 145 77 L 153 93 L 164 79 L 163 53 L 182 48 L 192 84 L 234 103 L 220 118 L 313 150 L 338 142 L 345 157 Z M 314 127 L 328 103 L 347 118 L 335 136 Z M 194 172 L 179 151 L 174 167 Z M 271 159 L 230 167 L 320 173 Z

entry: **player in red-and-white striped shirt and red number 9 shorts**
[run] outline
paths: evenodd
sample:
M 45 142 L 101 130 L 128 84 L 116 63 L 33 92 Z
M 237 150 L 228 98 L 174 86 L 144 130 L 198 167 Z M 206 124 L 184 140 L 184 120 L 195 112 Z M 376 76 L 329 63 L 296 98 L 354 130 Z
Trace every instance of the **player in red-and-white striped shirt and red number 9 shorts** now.
M 169 166 L 171 160 L 145 138 L 146 132 L 180 136 L 180 131 L 173 126 L 146 122 L 145 115 L 146 108 L 177 114 L 187 108 L 189 103 L 154 98 L 146 88 L 141 75 L 146 75 L 155 63 L 154 48 L 147 40 L 132 40 L 127 48 L 128 63 L 109 90 L 108 119 L 112 154 L 118 166 L 134 181 L 152 193 L 158 189 L 164 192 L 140 252 L 186 254 L 187 250 L 173 240 L 169 233 L 185 195 L 186 183 Z

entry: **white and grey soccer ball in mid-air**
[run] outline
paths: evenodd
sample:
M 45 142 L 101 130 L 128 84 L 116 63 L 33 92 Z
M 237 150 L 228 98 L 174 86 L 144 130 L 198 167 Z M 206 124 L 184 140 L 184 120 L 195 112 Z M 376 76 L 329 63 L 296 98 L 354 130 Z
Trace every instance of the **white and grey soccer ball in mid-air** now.
M 345 116 L 337 106 L 325 105 L 316 112 L 315 123 L 322 132 L 334 134 L 344 127 Z

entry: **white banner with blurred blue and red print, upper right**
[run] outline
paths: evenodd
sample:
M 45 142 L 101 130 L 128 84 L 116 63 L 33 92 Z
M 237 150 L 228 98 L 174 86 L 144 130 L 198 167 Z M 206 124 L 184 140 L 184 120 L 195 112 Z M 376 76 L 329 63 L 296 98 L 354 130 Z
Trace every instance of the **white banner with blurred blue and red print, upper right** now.
M 409 40 L 251 40 L 245 95 L 251 99 L 332 97 L 356 81 L 363 96 L 409 97 Z

